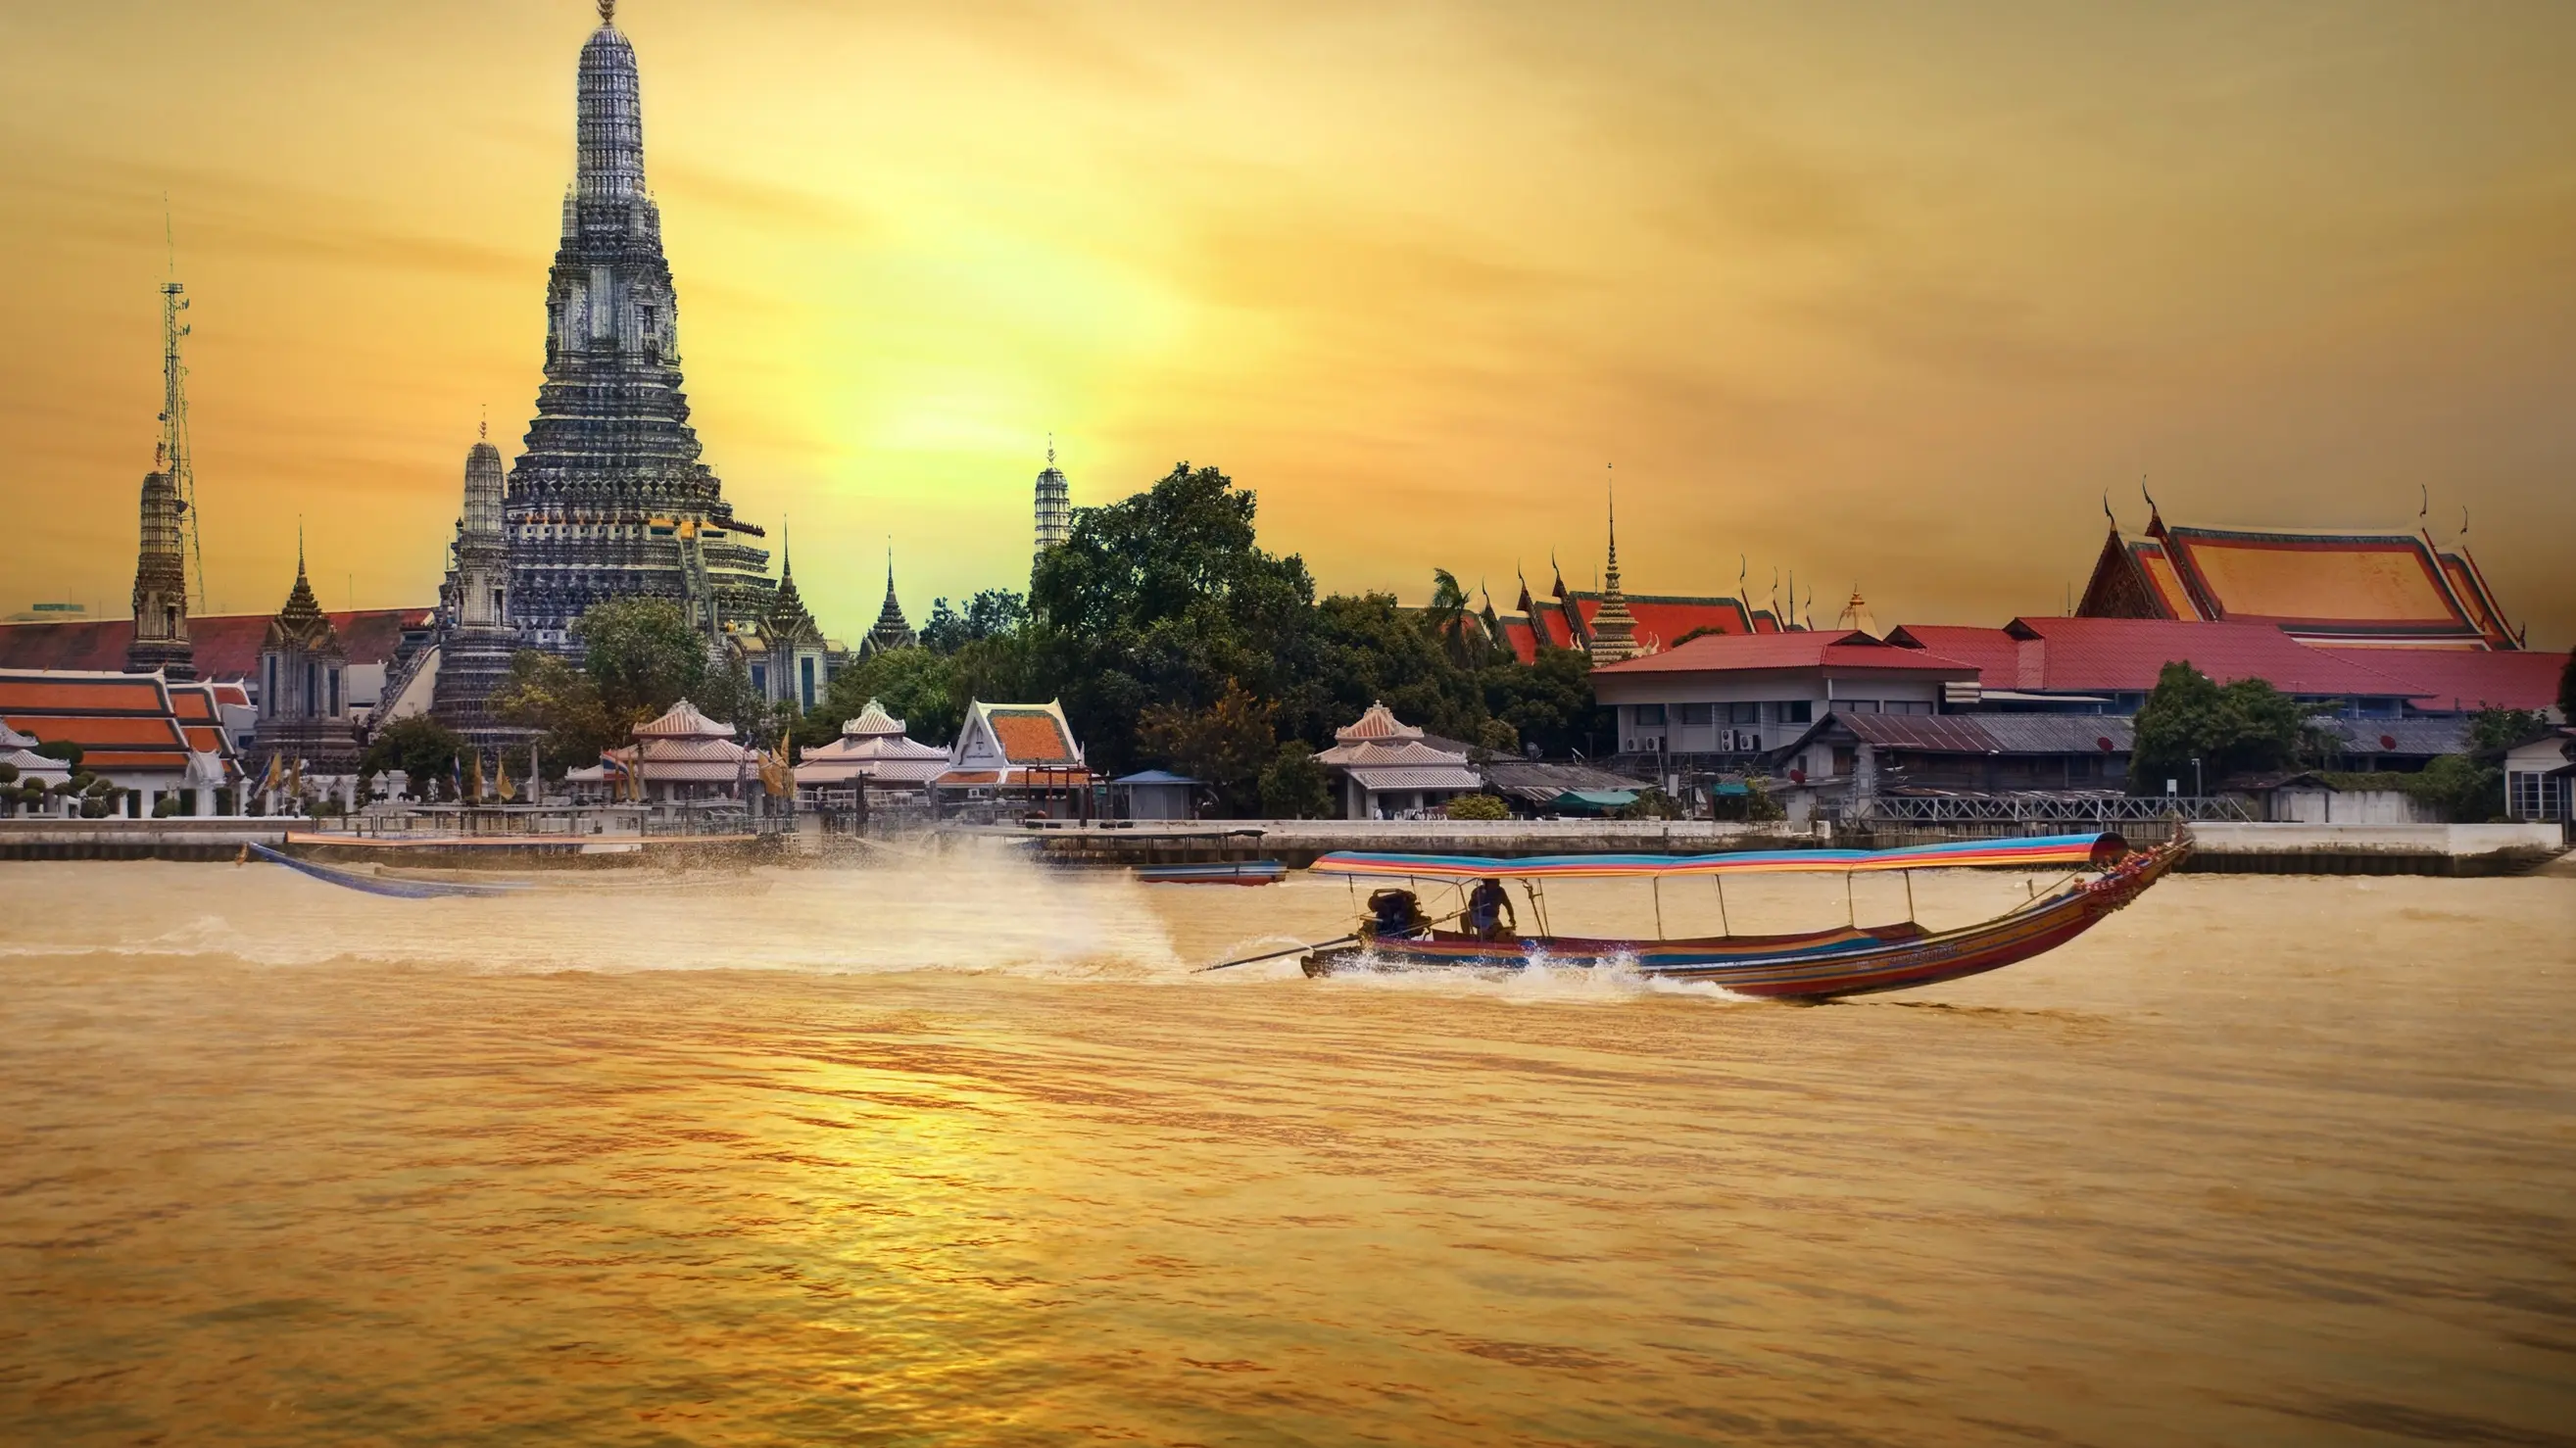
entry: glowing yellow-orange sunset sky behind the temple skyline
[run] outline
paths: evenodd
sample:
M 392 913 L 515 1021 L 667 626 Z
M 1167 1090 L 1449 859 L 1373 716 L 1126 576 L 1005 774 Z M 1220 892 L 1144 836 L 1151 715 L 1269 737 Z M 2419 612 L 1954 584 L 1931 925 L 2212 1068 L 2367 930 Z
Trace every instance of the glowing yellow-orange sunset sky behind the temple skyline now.
M 0 613 L 121 613 L 193 296 L 216 611 L 430 603 L 533 407 L 587 0 L 0 3 Z M 2576 636 L 2576 5 L 626 0 L 706 456 L 824 626 L 1177 459 L 1327 590 L 2056 613 L 2409 528 Z

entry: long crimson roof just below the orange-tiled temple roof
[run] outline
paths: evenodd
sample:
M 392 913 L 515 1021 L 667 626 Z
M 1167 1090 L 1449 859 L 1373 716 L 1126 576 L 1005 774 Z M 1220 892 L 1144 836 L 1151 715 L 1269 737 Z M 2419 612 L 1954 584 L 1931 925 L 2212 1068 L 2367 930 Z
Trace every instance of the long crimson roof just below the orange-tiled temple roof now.
M 2156 688 L 2164 665 L 2190 662 L 2218 683 L 2259 678 L 2282 693 L 2372 698 L 2419 693 L 2393 670 L 2311 649 L 2272 624 L 2014 618 L 2004 631 L 2030 644 L 2017 657 L 2017 688 L 2143 693 Z

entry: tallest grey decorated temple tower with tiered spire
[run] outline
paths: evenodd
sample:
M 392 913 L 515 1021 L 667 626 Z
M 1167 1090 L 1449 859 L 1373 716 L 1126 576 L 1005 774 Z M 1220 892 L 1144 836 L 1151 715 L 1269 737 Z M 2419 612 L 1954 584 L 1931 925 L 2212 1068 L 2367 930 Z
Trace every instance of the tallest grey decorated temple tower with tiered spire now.
M 528 644 L 569 652 L 605 598 L 670 598 L 708 647 L 770 611 L 760 528 L 698 461 L 677 296 L 644 188 L 636 52 L 600 0 L 580 62 L 580 160 L 546 286 L 546 381 L 502 497 L 507 600 Z

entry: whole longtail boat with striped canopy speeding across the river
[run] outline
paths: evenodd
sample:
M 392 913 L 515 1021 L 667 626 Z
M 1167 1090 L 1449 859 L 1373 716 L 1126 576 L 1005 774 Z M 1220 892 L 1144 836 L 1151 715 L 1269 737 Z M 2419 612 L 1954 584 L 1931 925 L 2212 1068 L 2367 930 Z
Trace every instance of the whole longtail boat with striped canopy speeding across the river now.
M 1430 920 L 1412 889 L 1378 889 L 1368 897 L 1360 928 L 1306 953 L 1309 976 L 1347 969 L 1468 969 L 1522 971 L 1530 966 L 1633 966 L 1643 976 L 1718 984 L 1739 995 L 1783 1000 L 1829 1000 L 1919 984 L 1953 982 L 2053 951 L 2092 930 L 2105 915 L 2138 899 L 2164 879 L 2192 848 L 2190 832 L 2148 850 L 2130 850 L 2120 835 L 2048 835 L 2030 840 L 1968 840 L 1914 845 L 1904 850 L 1759 850 L 1731 855 L 1535 855 L 1484 861 L 1471 855 L 1378 855 L 1332 853 L 1314 863 L 1316 873 L 1370 881 L 1484 881 L 1484 894 L 1502 894 L 1499 881 L 1520 881 L 1538 917 L 1538 935 L 1499 925 L 1473 897 L 1458 915 L 1466 930 L 1443 930 Z M 1620 940 L 1546 933 L 1546 881 L 1561 879 L 1651 879 L 1662 891 L 1669 879 L 1716 879 L 1723 910 L 1726 876 L 1832 871 L 1880 873 L 1927 868 L 2069 868 L 2061 889 L 2032 891 L 2032 899 L 1994 920 L 1958 930 L 1927 930 L 1914 920 L 1893 925 L 1847 922 L 1801 935 L 1705 935 L 1690 940 Z M 2092 879 L 2084 879 L 2084 876 Z M 1911 876 L 1906 897 L 1911 902 Z M 1662 915 L 1662 894 L 1656 897 Z M 1911 915 L 1911 910 L 1909 910 Z

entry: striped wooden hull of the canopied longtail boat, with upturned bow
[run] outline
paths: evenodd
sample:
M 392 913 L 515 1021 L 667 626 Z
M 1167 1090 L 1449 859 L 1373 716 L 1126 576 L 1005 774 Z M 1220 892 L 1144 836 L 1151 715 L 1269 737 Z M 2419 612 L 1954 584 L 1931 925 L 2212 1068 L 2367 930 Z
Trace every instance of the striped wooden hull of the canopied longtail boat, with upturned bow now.
M 1713 935 L 1700 940 L 1602 940 L 1577 935 L 1479 935 L 1427 930 L 1365 935 L 1314 951 L 1309 976 L 1365 969 L 1636 969 L 1641 976 L 1716 984 L 1736 995 L 1832 1000 L 1953 982 L 2027 961 L 2092 930 L 2138 899 L 2190 850 L 2190 840 L 2138 850 L 2099 879 L 2069 884 L 2009 915 L 1958 930 L 1850 925 L 1808 935 Z M 1504 866 L 1510 868 L 1510 866 Z

